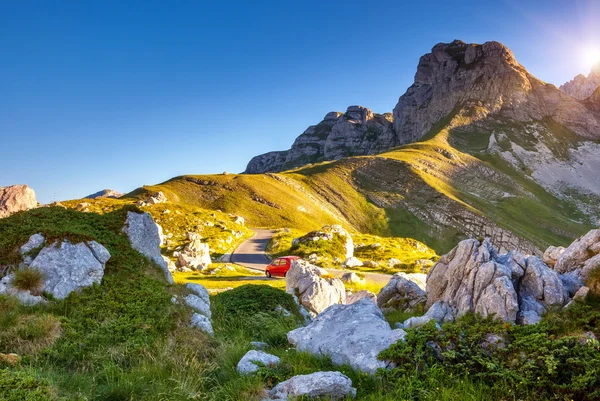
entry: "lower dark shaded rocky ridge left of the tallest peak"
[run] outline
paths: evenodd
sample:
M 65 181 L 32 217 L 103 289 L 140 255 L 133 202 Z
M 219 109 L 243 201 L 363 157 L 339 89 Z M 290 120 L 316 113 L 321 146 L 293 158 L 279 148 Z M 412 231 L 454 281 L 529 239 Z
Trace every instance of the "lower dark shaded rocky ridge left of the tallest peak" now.
M 350 106 L 346 113 L 327 113 L 323 121 L 296 138 L 290 150 L 254 157 L 245 172 L 279 172 L 325 160 L 376 154 L 394 146 L 390 114 Z

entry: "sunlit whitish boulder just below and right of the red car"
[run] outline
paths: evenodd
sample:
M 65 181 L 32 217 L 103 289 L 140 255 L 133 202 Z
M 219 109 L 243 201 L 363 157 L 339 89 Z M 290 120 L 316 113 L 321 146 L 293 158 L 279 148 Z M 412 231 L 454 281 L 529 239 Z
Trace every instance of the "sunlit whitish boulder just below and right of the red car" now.
M 331 305 L 346 302 L 346 289 L 340 279 L 302 259 L 292 262 L 286 274 L 285 288 L 289 294 L 298 298 L 312 316 Z

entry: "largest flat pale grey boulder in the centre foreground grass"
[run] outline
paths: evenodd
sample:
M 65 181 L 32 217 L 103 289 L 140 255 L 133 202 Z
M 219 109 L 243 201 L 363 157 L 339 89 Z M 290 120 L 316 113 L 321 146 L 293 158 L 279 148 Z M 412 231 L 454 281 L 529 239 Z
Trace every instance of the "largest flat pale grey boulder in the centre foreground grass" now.
M 309 325 L 288 333 L 298 351 L 331 358 L 336 365 L 375 373 L 385 368 L 379 353 L 404 338 L 406 332 L 392 330 L 375 303 L 364 298 L 351 305 L 332 305 Z

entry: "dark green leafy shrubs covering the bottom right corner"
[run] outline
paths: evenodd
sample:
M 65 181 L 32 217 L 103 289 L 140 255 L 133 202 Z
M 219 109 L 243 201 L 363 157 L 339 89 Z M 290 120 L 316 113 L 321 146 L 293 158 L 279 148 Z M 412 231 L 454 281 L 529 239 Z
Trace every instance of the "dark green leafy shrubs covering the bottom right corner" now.
M 467 315 L 439 331 L 434 322 L 408 330 L 405 341 L 381 353 L 397 366 L 381 375 L 394 383 L 415 375 L 426 380 L 432 369 L 470 377 L 504 397 L 522 399 L 600 398 L 600 344 L 582 336 L 598 312 L 586 306 L 548 317 L 532 326 L 513 326 Z M 598 326 L 595 326 L 598 335 Z M 488 334 L 504 346 L 482 346 Z M 512 392 L 512 393 L 511 393 Z

